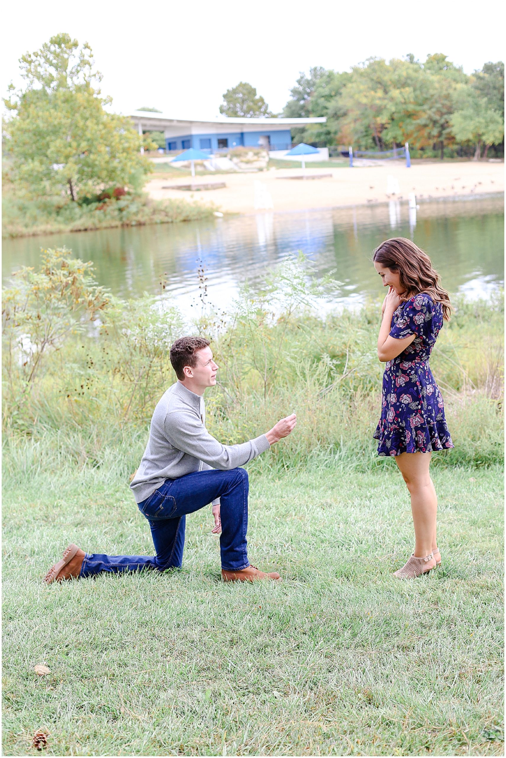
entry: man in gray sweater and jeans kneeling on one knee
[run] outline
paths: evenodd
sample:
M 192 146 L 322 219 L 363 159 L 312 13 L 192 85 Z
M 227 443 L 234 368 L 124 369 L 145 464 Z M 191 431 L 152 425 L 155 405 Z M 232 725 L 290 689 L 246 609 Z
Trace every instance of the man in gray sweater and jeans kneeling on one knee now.
M 282 418 L 270 431 L 240 445 L 222 445 L 205 428 L 203 394 L 214 387 L 218 367 L 208 340 L 182 337 L 170 348 L 177 381 L 161 396 L 151 418 L 148 445 L 130 487 L 148 519 L 155 557 L 85 553 L 70 544 L 49 569 L 45 583 L 101 572 L 164 571 L 183 562 L 186 515 L 212 503 L 220 534 L 223 581 L 279 579 L 252 566 L 246 550 L 248 474 L 245 463 L 287 437 L 297 419 Z

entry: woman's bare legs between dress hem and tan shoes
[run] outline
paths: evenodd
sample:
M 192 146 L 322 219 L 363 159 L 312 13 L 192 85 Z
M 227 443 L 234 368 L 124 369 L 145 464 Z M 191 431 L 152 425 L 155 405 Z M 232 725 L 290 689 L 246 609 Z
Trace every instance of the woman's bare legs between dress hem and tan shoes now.
M 429 475 L 431 453 L 401 453 L 395 462 L 411 495 L 415 546 L 414 555 L 424 558 L 432 552 L 436 539 L 438 501 Z M 436 565 L 436 561 L 431 561 Z

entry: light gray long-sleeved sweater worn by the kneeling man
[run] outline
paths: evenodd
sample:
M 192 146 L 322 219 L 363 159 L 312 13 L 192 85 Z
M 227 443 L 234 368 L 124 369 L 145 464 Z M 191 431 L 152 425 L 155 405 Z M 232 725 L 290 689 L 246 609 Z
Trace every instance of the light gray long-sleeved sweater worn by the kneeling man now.
M 265 434 L 241 445 L 222 445 L 215 440 L 205 428 L 204 398 L 177 381 L 157 403 L 148 444 L 130 487 L 136 503 L 142 503 L 166 479 L 206 468 L 227 471 L 245 465 L 269 448 Z

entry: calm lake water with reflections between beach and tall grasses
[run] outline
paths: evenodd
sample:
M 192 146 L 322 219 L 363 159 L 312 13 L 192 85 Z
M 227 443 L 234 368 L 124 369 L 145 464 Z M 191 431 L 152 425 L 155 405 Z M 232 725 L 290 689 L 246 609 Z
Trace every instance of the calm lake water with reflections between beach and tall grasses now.
M 489 296 L 504 286 L 503 197 L 406 202 L 374 207 L 213 218 L 80 233 L 4 240 L 4 280 L 20 265 L 37 265 L 41 247 L 67 246 L 95 264 L 95 277 L 112 292 L 136 297 L 165 292 L 183 309 L 198 301 L 198 267 L 205 267 L 208 300 L 221 308 L 248 278 L 261 286 L 266 269 L 301 250 L 319 274 L 343 283 L 339 304 L 382 294 L 370 262 L 373 249 L 392 236 L 414 240 L 429 253 L 451 293 Z

